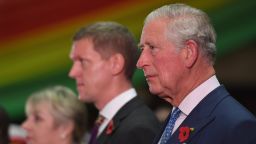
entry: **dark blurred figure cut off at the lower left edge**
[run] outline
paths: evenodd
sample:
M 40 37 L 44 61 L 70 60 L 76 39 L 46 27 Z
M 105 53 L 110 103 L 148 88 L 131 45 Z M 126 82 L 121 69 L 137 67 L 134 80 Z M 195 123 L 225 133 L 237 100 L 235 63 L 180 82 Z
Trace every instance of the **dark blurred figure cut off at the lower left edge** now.
M 0 144 L 9 143 L 8 129 L 10 119 L 4 108 L 0 107 Z

